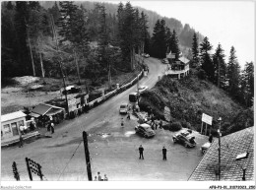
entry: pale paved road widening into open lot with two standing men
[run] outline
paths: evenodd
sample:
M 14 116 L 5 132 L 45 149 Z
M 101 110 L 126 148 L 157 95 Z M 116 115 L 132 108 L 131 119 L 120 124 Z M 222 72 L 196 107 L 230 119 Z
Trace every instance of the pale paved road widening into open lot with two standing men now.
M 150 73 L 140 85 L 154 87 L 162 74 L 164 65 L 154 58 L 146 59 Z M 14 180 L 12 162 L 18 163 L 21 180 L 29 180 L 25 158 L 32 158 L 42 165 L 48 180 L 87 180 L 82 131 L 90 133 L 89 149 L 93 175 L 97 171 L 106 173 L 109 180 L 187 180 L 202 158 L 199 148 L 206 138 L 197 135 L 198 147 L 187 150 L 170 141 L 172 133 L 158 130 L 153 139 L 144 139 L 134 134 L 135 117 L 127 120 L 118 113 L 121 102 L 136 86 L 116 95 L 91 110 L 88 114 L 64 121 L 56 126 L 52 138 L 38 139 L 23 148 L 2 150 L 2 180 Z M 124 127 L 120 126 L 123 117 Z M 138 159 L 138 147 L 145 148 L 145 159 Z M 161 160 L 161 146 L 167 148 L 167 160 Z M 34 176 L 34 180 L 39 180 Z

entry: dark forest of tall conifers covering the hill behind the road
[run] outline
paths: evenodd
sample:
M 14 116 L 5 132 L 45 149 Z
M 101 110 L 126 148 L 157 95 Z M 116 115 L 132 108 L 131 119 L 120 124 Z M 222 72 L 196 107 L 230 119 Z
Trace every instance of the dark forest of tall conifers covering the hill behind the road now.
M 134 8 L 130 2 L 112 5 L 93 2 L 2 2 L 1 14 L 2 86 L 8 79 L 77 76 L 93 83 L 111 77 L 119 70 L 135 69 L 135 53 L 164 58 L 166 53 L 180 56 L 189 48 L 191 66 L 200 76 L 249 107 L 253 105 L 254 64 L 240 71 L 235 48 L 224 60 L 221 44 L 214 54 L 207 36 L 175 19 Z M 94 85 L 94 84 L 93 84 Z

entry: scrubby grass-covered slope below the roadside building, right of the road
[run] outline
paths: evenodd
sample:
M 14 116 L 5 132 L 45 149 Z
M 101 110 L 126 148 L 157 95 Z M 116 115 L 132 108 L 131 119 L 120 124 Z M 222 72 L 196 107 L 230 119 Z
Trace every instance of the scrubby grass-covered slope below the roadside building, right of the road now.
M 253 125 L 253 110 L 245 110 L 228 95 L 208 81 L 200 80 L 196 70 L 186 78 L 175 80 L 163 76 L 150 91 L 142 94 L 142 109 L 148 106 L 160 118 L 164 118 L 164 107 L 169 107 L 170 121 L 190 123 L 192 129 L 200 131 L 202 113 L 213 117 L 211 132 L 216 135 L 218 118 L 222 117 L 223 133 L 228 134 Z M 239 124 L 235 118 L 244 118 Z M 239 126 L 237 126 L 237 124 Z

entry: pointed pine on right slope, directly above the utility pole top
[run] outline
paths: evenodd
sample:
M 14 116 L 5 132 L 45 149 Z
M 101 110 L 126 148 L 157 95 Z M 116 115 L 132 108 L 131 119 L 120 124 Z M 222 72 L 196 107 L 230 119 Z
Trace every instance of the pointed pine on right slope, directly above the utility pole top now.
M 216 52 L 213 56 L 215 79 L 214 83 L 219 86 L 219 88 L 225 88 L 225 74 L 226 74 L 226 64 L 224 62 L 224 49 L 219 43 Z

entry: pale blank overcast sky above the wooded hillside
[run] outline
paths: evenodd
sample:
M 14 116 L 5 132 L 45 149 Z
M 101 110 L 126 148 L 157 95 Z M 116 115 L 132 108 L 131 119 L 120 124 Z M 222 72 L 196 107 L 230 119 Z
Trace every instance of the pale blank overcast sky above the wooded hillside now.
M 120 1 L 108 1 L 119 3 Z M 124 4 L 127 1 L 122 1 Z M 226 60 L 231 45 L 241 66 L 255 61 L 255 4 L 253 1 L 130 1 L 155 11 L 160 16 L 175 18 L 182 25 L 208 36 L 216 49 L 220 42 Z

